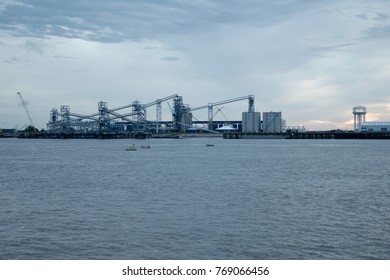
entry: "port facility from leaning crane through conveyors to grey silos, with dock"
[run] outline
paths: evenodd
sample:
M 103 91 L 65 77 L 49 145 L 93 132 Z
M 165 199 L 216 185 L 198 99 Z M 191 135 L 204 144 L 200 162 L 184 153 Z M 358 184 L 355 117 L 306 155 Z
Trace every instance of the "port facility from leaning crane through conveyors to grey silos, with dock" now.
M 18 93 L 21 97 L 20 93 Z M 242 112 L 242 120 L 216 121 L 218 106 L 228 103 L 246 101 L 246 110 Z M 162 104 L 167 103 L 171 111 L 171 120 L 162 120 Z M 22 102 L 22 104 L 24 104 Z M 222 133 L 282 133 L 283 120 L 281 112 L 263 113 L 255 111 L 254 95 L 246 95 L 218 102 L 210 102 L 203 106 L 191 107 L 184 104 L 183 97 L 173 94 L 149 103 L 138 100 L 116 108 L 110 108 L 107 102 L 99 101 L 97 112 L 80 114 L 72 112 L 69 105 L 61 105 L 59 110 L 50 111 L 47 130 L 24 131 L 20 137 L 44 138 L 149 138 L 178 137 L 183 133 L 212 135 Z M 155 115 L 148 118 L 147 111 L 155 108 Z M 215 109 L 217 108 L 217 110 Z M 29 110 L 25 108 L 29 116 Z M 194 111 L 207 110 L 207 120 L 198 120 Z M 222 111 L 221 111 L 222 112 Z M 223 112 L 222 112 L 223 114 Z M 32 120 L 29 116 L 32 123 Z M 265 121 L 265 122 L 264 122 Z M 263 129 L 262 129 L 263 124 Z M 33 124 L 31 124 L 33 126 Z

